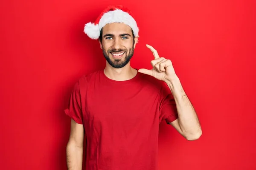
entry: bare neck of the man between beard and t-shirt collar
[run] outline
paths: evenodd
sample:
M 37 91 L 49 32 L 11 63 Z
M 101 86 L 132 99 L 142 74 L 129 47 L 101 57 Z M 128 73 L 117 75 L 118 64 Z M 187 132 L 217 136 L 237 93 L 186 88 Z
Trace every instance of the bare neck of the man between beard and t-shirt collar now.
M 132 68 L 130 64 L 125 65 L 123 68 L 113 68 L 107 64 L 104 73 L 110 79 L 125 81 L 134 78 L 137 74 L 137 70 Z

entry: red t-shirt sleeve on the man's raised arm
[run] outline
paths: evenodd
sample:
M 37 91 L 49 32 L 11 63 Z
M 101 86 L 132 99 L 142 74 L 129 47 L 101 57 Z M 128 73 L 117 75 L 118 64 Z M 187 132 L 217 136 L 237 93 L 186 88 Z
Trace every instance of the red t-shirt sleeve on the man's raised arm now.
M 159 109 L 159 122 L 165 120 L 166 123 L 169 123 L 175 121 L 178 118 L 175 99 L 166 84 L 164 84 L 160 89 Z

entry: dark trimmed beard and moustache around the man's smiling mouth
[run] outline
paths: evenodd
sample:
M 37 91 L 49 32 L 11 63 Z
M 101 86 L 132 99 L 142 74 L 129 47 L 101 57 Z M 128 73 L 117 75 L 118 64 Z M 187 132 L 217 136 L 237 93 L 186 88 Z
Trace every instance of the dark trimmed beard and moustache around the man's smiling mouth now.
M 105 59 L 108 61 L 108 63 L 113 68 L 122 68 L 125 65 L 127 65 L 128 62 L 130 62 L 131 57 L 134 54 L 134 46 L 132 46 L 132 48 L 129 49 L 129 52 L 126 49 L 118 49 L 118 50 L 112 49 L 112 50 L 106 51 L 104 48 L 102 49 L 102 51 L 103 51 Z M 124 56 L 121 59 L 115 59 L 115 58 L 111 59 L 111 57 L 110 57 L 110 55 L 111 55 L 110 53 L 111 52 L 118 53 L 118 52 L 121 52 L 121 51 L 124 52 L 124 54 L 123 54 Z

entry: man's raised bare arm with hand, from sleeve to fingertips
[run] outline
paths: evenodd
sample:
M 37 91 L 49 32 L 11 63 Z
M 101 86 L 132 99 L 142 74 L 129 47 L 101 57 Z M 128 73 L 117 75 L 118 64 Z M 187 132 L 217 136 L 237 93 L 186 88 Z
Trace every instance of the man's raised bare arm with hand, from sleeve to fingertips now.
M 169 124 L 173 125 L 188 140 L 196 140 L 201 134 L 201 126 L 195 110 L 184 92 L 170 59 L 159 57 L 157 50 L 151 45 L 146 45 L 153 53 L 151 60 L 153 69 L 141 68 L 138 71 L 148 74 L 156 79 L 166 82 L 174 96 L 179 118 Z

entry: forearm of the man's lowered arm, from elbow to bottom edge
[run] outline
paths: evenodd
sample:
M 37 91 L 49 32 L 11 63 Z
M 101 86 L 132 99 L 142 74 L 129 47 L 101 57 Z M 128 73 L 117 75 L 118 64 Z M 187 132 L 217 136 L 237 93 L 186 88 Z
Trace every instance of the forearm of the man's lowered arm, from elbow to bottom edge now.
M 83 147 L 77 147 L 75 144 L 68 143 L 66 147 L 67 169 L 82 170 Z

